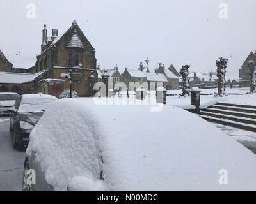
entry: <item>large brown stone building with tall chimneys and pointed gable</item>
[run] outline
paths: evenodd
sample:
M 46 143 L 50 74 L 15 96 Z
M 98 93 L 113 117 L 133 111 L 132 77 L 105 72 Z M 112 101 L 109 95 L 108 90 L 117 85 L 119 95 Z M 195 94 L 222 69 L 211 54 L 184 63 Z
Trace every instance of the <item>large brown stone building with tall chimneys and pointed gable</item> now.
M 3 52 L 0 52 L 0 87 L 5 84 L 4 87 L 9 87 L 8 91 L 15 86 L 19 87 L 20 94 L 37 93 L 42 91 L 40 81 L 47 78 L 63 79 L 65 80 L 63 88 L 69 89 L 70 79 L 61 78 L 61 74 L 72 73 L 72 88 L 79 96 L 89 96 L 92 84 L 90 77 L 92 75 L 97 77 L 96 64 L 95 49 L 84 36 L 76 20 L 60 36 L 58 29 L 52 29 L 51 36 L 47 36 L 47 28 L 44 25 L 41 53 L 36 56 L 34 66 L 15 68 L 12 62 L 9 62 L 3 55 Z M 6 72 L 9 73 L 9 82 L 1 80 Z M 12 73 L 11 76 L 11 72 L 15 73 Z M 20 73 L 17 72 L 23 72 L 22 78 L 29 80 L 18 80 Z M 24 77 L 25 75 L 26 77 Z M 24 89 L 24 84 L 29 84 L 30 91 Z

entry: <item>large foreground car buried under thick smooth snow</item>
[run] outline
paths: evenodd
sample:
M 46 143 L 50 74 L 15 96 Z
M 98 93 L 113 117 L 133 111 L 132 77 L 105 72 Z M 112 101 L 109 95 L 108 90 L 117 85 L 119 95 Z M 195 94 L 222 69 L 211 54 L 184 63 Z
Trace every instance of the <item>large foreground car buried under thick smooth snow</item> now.
M 198 115 L 151 108 L 54 101 L 31 132 L 24 191 L 256 190 L 250 150 Z

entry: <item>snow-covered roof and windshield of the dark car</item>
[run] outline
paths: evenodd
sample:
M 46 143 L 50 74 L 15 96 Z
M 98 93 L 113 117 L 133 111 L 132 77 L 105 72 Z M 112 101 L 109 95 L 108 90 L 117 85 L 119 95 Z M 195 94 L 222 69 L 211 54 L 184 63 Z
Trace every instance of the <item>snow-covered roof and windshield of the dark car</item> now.
M 45 112 L 47 106 L 54 101 L 54 98 L 26 98 L 22 99 L 20 103 L 19 112 L 21 113 L 35 113 Z

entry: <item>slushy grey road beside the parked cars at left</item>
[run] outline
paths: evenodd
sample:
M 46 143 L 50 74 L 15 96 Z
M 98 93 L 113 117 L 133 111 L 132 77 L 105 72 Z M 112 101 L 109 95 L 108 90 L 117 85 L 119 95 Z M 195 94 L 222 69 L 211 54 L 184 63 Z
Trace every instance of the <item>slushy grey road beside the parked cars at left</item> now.
M 25 152 L 12 148 L 9 119 L 0 117 L 0 191 L 20 191 Z

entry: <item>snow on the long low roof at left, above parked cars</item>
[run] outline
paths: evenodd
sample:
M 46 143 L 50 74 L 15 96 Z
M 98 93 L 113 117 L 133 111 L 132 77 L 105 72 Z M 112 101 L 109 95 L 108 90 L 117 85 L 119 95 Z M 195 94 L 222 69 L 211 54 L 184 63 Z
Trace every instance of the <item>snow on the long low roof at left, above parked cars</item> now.
M 40 71 L 35 74 L 26 74 L 26 73 L 8 73 L 8 72 L 0 72 L 0 83 L 3 84 L 24 84 L 28 82 L 33 82 L 36 77 L 39 77 L 45 71 Z

